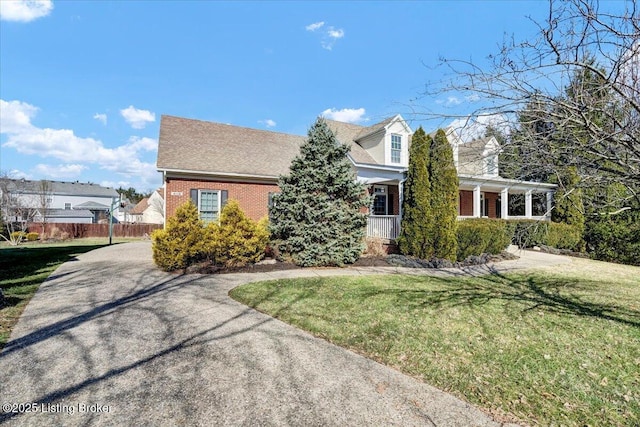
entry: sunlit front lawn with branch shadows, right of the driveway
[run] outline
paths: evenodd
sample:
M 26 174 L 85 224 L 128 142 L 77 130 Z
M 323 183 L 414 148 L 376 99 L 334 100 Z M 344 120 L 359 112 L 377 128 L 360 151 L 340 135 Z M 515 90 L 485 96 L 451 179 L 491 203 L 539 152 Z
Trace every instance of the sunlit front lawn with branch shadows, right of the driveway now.
M 327 277 L 231 296 L 531 425 L 640 424 L 640 268 L 575 260 L 480 278 Z

